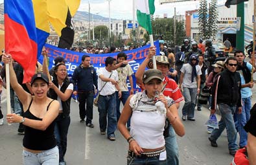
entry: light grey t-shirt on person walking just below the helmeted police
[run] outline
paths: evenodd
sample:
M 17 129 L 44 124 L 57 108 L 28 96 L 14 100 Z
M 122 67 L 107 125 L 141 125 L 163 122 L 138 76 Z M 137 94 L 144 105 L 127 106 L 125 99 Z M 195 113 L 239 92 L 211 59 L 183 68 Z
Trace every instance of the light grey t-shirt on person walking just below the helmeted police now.
M 186 63 L 181 67 L 180 71 L 184 73 L 182 86 L 189 87 L 189 88 L 197 88 L 196 76 L 194 76 L 194 81 L 191 82 L 192 66 L 189 63 Z M 199 65 L 196 65 L 196 74 L 197 75 L 202 74 L 202 71 L 201 71 Z

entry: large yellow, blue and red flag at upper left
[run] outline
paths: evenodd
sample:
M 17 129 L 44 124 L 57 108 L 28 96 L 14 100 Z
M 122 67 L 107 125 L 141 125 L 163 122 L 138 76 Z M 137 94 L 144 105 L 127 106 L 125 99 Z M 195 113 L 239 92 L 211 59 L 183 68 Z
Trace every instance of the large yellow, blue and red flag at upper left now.
M 80 0 L 5 0 L 4 5 L 6 53 L 12 54 L 23 67 L 23 83 L 30 82 L 36 61 L 49 36 L 50 23 L 60 36 L 63 28 L 67 25 L 71 27 L 67 20 L 71 22 Z

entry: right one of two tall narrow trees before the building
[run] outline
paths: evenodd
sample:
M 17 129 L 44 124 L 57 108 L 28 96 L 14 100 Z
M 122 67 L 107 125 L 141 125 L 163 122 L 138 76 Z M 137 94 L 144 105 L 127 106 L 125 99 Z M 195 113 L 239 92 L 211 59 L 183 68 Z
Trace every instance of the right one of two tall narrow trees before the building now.
M 217 10 L 217 0 L 211 0 L 211 5 L 209 7 L 209 19 L 208 19 L 208 29 L 209 38 L 215 40 L 217 33 L 217 21 L 218 21 L 218 10 Z

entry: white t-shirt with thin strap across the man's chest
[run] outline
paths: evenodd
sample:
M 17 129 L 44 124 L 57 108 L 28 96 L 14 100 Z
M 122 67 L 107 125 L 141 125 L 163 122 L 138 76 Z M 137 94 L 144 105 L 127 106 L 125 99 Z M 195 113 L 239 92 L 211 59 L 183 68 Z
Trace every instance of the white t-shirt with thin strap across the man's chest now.
M 119 80 L 117 71 L 112 71 L 111 77 L 110 74 L 111 72 L 107 71 L 106 67 L 100 68 L 98 71 L 98 76 L 104 75 L 105 78 L 112 78 L 115 81 Z M 104 83 L 106 83 L 106 85 L 102 89 Z M 100 78 L 98 78 L 98 89 L 100 91 L 100 95 L 102 96 L 115 93 L 115 85 L 113 85 L 111 82 L 103 82 Z

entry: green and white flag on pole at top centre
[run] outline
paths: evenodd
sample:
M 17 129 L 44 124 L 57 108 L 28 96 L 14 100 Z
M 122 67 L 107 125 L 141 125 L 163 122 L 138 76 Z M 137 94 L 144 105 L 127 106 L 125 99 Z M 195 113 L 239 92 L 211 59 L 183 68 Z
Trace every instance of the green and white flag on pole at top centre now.
M 135 0 L 137 9 L 137 20 L 141 27 L 145 28 L 148 34 L 152 34 L 150 14 L 155 12 L 155 0 Z

